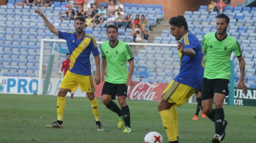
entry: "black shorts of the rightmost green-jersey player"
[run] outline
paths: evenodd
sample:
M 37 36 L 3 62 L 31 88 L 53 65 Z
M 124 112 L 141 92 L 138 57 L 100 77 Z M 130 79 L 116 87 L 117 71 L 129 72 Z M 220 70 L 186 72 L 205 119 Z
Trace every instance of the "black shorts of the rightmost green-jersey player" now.
M 229 80 L 217 78 L 207 79 L 204 78 L 202 84 L 202 100 L 211 99 L 214 93 L 229 95 Z

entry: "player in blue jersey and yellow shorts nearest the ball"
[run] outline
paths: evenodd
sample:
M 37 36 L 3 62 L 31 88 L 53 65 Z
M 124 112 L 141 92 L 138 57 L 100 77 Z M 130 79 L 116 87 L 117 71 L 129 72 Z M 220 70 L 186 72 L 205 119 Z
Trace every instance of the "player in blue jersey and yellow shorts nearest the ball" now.
M 176 107 L 196 93 L 203 80 L 202 45 L 198 38 L 188 31 L 183 16 L 172 17 L 169 21 L 171 34 L 178 40 L 180 71 L 163 91 L 158 111 L 169 138 L 169 143 L 178 143 L 178 114 Z

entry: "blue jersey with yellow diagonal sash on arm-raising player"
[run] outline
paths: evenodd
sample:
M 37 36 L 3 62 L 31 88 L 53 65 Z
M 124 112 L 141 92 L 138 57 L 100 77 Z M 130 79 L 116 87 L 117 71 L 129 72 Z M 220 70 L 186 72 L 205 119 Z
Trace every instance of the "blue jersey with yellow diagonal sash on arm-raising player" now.
M 58 31 L 59 38 L 65 39 L 70 54 L 70 67 L 68 70 L 75 74 L 91 75 L 90 54 L 99 55 L 96 40 L 90 34 L 85 33 L 78 39 L 76 32 Z

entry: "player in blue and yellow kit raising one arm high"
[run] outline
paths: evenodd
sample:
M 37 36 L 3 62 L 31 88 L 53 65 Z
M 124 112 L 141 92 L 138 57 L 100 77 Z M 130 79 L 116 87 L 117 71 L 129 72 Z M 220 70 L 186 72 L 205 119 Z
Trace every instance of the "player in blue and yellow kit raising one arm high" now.
M 35 10 L 35 13 L 38 13 L 43 18 L 46 26 L 52 33 L 67 41 L 70 53 L 70 67 L 62 80 L 57 97 L 57 121 L 47 125 L 46 127 L 63 128 L 65 96 L 68 91 L 76 91 L 78 86 L 80 86 L 81 91 L 86 92 L 91 103 L 97 130 L 103 131 L 103 126 L 99 121 L 99 109 L 97 99 L 94 95 L 95 87 L 93 84 L 93 77 L 91 75 L 91 63 L 89 59 L 92 52 L 96 63 L 95 82 L 96 84 L 99 84 L 101 82 L 99 51 L 94 37 L 85 33 L 83 30 L 85 27 L 85 17 L 78 16 L 75 18 L 74 27 L 76 32 L 63 32 L 56 29 L 48 21 L 47 17 L 45 17 L 39 7 L 38 10 Z

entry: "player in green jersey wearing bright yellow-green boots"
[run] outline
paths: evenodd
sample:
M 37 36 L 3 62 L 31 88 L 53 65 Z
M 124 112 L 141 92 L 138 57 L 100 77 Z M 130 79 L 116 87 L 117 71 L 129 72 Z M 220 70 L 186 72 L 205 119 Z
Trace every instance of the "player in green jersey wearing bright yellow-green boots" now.
M 102 55 L 102 81 L 106 76 L 101 93 L 101 101 L 111 111 L 118 114 L 118 128 L 123 132 L 131 132 L 130 110 L 126 104 L 127 87 L 134 88 L 132 73 L 134 71 L 134 57 L 130 46 L 117 39 L 118 27 L 109 25 L 107 27 L 107 36 L 109 40 L 101 44 Z M 129 71 L 127 72 L 126 61 L 129 62 Z M 107 72 L 106 72 L 107 67 Z M 121 109 L 114 103 L 116 95 Z

